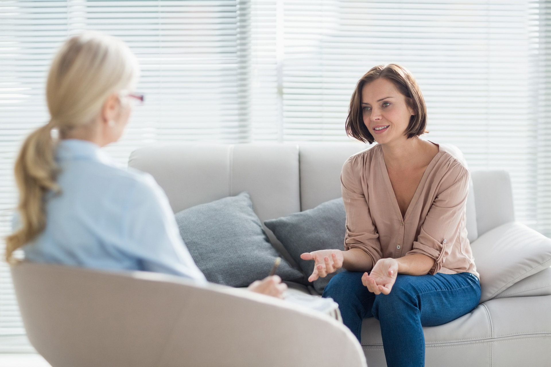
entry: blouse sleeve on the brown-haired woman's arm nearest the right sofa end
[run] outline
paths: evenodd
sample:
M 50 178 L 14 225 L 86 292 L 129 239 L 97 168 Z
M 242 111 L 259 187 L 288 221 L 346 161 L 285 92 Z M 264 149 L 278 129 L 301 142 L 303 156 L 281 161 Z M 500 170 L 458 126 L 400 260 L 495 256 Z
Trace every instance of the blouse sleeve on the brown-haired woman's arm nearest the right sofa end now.
M 469 172 L 466 168 L 456 164 L 446 172 L 417 241 L 413 242 L 413 249 L 406 254 L 423 254 L 433 258 L 435 262 L 429 274 L 440 271 L 453 244 L 460 239 L 468 188 Z

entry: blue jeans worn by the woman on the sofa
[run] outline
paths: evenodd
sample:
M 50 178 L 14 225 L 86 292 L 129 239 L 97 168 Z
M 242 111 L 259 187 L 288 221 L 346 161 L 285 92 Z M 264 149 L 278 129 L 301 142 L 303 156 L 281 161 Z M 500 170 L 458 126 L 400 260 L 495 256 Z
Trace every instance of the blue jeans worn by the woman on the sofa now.
M 379 320 L 388 367 L 424 366 L 422 326 L 455 320 L 472 311 L 480 300 L 480 283 L 471 273 L 399 274 L 390 294 L 378 295 L 361 284 L 362 275 L 338 273 L 325 287 L 323 297 L 339 304 L 344 325 L 358 340 L 363 319 L 373 316 Z

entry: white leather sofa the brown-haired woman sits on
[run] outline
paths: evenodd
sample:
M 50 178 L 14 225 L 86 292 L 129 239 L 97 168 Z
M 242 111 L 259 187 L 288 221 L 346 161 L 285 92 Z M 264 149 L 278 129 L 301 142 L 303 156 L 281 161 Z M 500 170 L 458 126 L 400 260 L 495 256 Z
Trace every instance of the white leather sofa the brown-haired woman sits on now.
M 175 212 L 247 190 L 264 221 L 339 198 L 344 161 L 366 147 L 353 143 L 157 145 L 134 151 L 129 166 L 151 173 Z M 472 181 L 467 229 L 475 262 L 477 254 L 499 246 L 503 236 L 515 236 L 521 242 L 541 240 L 532 229 L 515 223 L 505 172 L 473 172 Z M 493 276 L 486 269 L 493 271 L 494 265 L 480 264 L 481 277 Z M 551 366 L 549 265 L 534 269 L 545 269 L 542 273 L 506 284 L 508 288 L 483 288 L 483 298 L 491 299 L 472 313 L 449 324 L 425 327 L 426 366 Z M 379 322 L 372 317 L 364 320 L 361 345 L 369 367 L 386 366 Z

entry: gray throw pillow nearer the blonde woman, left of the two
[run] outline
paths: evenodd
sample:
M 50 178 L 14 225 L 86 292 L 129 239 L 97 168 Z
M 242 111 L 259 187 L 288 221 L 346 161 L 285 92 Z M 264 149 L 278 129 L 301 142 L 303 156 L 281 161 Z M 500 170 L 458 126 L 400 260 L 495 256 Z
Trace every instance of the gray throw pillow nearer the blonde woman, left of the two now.
M 278 253 L 269 243 L 248 193 L 176 213 L 183 241 L 209 282 L 245 287 L 269 275 Z M 302 278 L 282 259 L 283 280 Z

